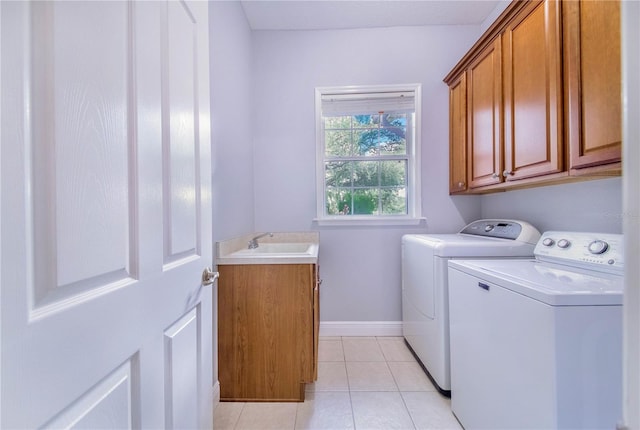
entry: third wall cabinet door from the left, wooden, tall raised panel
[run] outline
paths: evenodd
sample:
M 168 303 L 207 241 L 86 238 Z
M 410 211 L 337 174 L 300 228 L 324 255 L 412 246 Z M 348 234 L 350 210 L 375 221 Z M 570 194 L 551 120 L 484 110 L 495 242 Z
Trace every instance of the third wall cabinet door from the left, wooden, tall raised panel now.
M 504 32 L 505 180 L 564 170 L 560 4 L 532 1 Z

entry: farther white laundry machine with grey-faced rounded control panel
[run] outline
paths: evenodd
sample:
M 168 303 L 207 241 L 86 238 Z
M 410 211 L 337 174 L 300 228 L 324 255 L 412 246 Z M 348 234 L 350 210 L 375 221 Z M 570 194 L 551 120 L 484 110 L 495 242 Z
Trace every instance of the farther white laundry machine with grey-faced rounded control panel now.
M 517 220 L 484 219 L 453 234 L 402 237 L 402 333 L 436 388 L 449 395 L 447 262 L 532 257 L 540 232 Z

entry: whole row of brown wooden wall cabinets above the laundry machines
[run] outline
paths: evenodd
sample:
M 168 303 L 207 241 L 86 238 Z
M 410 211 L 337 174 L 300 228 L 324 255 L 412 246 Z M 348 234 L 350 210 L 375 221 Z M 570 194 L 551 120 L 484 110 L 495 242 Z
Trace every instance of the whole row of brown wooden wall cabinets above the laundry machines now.
M 444 78 L 449 192 L 620 175 L 620 60 L 619 0 L 512 1 Z

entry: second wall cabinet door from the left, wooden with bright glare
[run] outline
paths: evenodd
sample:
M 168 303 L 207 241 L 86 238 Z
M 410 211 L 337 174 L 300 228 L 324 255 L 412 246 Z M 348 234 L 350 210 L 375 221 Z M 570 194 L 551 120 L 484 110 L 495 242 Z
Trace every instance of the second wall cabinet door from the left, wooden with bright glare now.
M 469 187 L 501 182 L 501 38 L 487 46 L 467 69 Z

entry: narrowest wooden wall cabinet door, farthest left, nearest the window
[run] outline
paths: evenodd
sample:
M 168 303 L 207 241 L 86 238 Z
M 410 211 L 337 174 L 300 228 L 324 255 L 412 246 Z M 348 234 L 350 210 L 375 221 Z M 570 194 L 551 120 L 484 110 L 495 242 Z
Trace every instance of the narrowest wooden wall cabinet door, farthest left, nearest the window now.
M 467 78 L 449 86 L 449 193 L 467 189 Z

